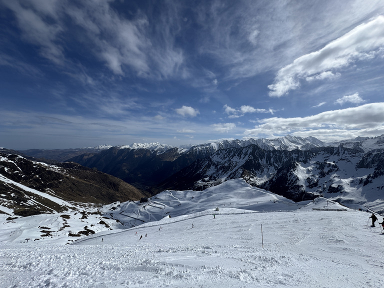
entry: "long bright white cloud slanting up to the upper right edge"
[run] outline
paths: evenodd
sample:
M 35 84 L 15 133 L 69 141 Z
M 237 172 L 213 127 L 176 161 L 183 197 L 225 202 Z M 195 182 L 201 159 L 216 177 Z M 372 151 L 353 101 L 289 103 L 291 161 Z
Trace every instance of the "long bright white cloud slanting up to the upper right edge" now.
M 360 24 L 320 50 L 300 56 L 282 67 L 274 83 L 268 85 L 269 96 L 280 97 L 300 86 L 300 79 L 328 79 L 332 72 L 351 65 L 356 60 L 369 59 L 382 53 L 384 46 L 384 16 Z

